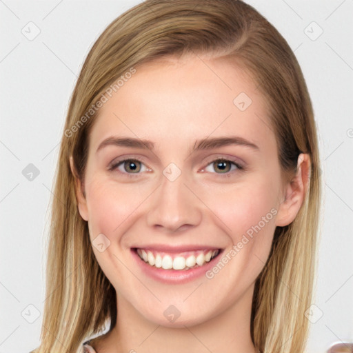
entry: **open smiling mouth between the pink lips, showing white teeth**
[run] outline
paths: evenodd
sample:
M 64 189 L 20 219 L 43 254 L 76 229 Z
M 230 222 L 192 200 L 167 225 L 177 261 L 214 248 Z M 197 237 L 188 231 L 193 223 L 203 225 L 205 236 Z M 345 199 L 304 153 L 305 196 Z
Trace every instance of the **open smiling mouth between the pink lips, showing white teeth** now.
M 200 249 L 184 252 L 163 252 L 151 248 L 132 248 L 141 261 L 144 261 L 152 268 L 161 270 L 186 271 L 194 268 L 201 268 L 219 256 L 222 249 Z

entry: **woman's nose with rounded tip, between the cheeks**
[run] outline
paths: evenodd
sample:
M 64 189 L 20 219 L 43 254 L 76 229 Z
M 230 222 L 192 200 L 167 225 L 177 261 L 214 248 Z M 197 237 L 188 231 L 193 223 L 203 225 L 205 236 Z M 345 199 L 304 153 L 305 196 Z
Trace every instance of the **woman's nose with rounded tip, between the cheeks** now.
M 163 174 L 161 185 L 152 194 L 147 214 L 148 226 L 165 232 L 181 232 L 201 222 L 201 207 L 202 202 L 192 187 L 185 183 L 183 173 L 175 180 Z

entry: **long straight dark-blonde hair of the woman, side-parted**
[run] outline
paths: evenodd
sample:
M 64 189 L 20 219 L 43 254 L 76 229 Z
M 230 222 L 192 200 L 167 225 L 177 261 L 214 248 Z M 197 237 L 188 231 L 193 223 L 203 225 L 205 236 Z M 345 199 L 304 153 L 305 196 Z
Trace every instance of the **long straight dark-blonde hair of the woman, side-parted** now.
M 53 190 L 41 345 L 33 353 L 77 352 L 108 321 L 110 330 L 117 322 L 116 292 L 95 259 L 70 170 L 72 156 L 76 177 L 83 183 L 88 134 L 97 119 L 96 112 L 87 112 L 132 68 L 188 53 L 227 57 L 252 74 L 268 101 L 283 175 L 296 172 L 299 153 L 310 155 L 303 205 L 290 225 L 276 228 L 270 256 L 256 279 L 250 327 L 254 345 L 263 353 L 303 351 L 321 183 L 312 104 L 299 63 L 281 34 L 242 1 L 146 0 L 104 30 L 72 94 Z

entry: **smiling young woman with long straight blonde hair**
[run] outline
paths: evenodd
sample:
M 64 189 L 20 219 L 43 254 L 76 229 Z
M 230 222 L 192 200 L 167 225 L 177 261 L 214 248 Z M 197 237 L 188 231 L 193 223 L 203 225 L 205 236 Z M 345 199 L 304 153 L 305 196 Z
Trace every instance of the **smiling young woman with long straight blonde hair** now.
M 267 20 L 135 6 L 74 88 L 34 352 L 303 352 L 320 190 L 303 74 Z

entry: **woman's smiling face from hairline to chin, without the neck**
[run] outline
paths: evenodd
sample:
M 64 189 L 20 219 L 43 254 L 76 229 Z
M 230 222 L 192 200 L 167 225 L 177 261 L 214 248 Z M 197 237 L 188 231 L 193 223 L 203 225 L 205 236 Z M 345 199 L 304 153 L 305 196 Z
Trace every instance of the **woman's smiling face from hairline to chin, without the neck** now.
M 89 138 L 79 212 L 118 308 L 182 327 L 249 303 L 276 225 L 296 212 L 282 209 L 256 83 L 224 59 L 145 63 L 104 103 Z

